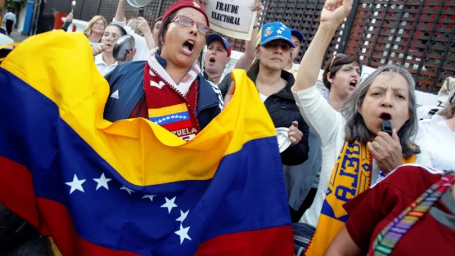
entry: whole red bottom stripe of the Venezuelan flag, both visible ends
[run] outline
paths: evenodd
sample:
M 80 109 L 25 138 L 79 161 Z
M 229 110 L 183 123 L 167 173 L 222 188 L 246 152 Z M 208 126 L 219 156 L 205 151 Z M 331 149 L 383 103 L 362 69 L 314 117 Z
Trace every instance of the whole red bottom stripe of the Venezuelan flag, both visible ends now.
M 64 205 L 35 197 L 32 176 L 24 166 L 0 156 L 0 202 L 33 224 L 42 235 L 51 235 L 65 256 L 138 256 L 115 251 L 82 239 Z M 39 214 L 38 214 L 39 209 Z M 45 220 L 51 220 L 45 222 Z M 276 246 L 279 245 L 279 246 Z M 199 245 L 195 256 L 292 256 L 292 226 L 279 226 L 218 236 Z

